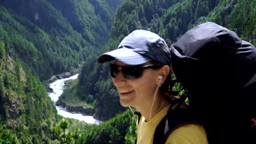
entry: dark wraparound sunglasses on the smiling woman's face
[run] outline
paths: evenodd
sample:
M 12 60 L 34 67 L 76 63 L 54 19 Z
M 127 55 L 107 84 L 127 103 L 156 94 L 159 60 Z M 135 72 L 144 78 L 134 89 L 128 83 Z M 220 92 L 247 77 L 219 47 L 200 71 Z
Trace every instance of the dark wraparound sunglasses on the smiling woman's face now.
M 144 69 L 149 68 L 157 68 L 159 66 L 156 66 L 154 64 L 149 65 L 127 65 L 124 67 L 119 67 L 116 64 L 110 63 L 110 74 L 112 77 L 117 77 L 118 71 L 122 71 L 123 76 L 125 79 L 138 79 L 142 76 Z

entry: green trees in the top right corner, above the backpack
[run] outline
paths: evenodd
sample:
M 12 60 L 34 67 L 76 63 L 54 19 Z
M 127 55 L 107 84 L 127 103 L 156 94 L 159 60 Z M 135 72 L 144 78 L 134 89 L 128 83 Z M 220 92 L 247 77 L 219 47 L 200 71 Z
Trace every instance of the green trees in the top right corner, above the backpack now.
M 208 16 L 208 21 L 229 28 L 243 40 L 255 44 L 255 1 L 221 1 Z

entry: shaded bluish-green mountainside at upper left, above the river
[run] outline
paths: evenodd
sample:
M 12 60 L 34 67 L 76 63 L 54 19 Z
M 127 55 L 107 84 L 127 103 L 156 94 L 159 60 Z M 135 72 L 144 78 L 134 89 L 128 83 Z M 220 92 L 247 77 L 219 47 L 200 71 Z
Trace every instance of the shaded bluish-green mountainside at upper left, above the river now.
M 78 68 L 107 43 L 110 16 L 115 9 L 106 9 L 117 7 L 120 1 L 104 4 L 3 0 L 0 2 L 0 37 L 5 47 L 17 53 L 34 75 L 46 80 L 53 74 Z M 96 13 L 96 6 L 104 7 L 103 18 Z

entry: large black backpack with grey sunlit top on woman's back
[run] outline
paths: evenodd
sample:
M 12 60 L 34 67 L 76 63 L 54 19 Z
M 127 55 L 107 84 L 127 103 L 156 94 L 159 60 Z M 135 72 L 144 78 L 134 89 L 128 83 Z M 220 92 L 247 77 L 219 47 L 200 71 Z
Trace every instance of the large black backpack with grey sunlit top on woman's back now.
M 256 49 L 206 22 L 171 46 L 172 68 L 212 143 L 256 143 Z

